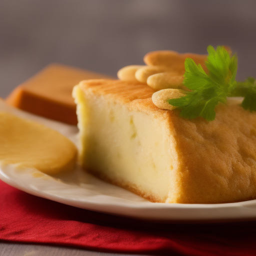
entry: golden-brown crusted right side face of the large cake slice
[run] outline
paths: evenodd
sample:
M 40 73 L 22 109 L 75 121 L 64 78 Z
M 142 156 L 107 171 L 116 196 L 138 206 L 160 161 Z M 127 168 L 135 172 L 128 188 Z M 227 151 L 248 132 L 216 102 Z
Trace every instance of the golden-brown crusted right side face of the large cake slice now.
M 220 104 L 211 122 L 172 118 L 182 163 L 177 202 L 256 199 L 256 113 Z

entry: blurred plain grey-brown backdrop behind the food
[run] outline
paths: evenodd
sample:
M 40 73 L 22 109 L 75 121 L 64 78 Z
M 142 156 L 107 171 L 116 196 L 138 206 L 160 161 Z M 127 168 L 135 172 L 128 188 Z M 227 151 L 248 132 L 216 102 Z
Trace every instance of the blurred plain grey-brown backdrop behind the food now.
M 116 75 L 151 50 L 238 54 L 256 76 L 255 0 L 0 0 L 0 96 L 50 62 Z

